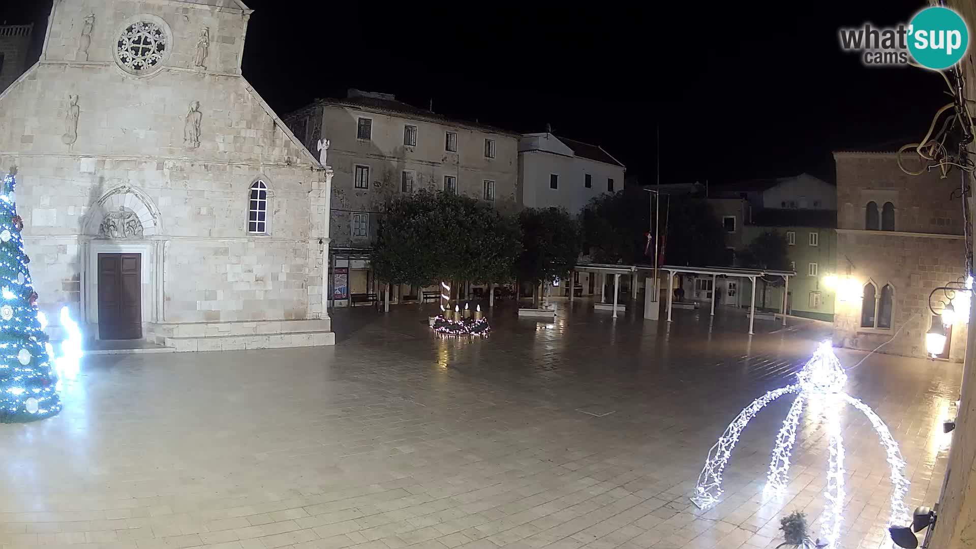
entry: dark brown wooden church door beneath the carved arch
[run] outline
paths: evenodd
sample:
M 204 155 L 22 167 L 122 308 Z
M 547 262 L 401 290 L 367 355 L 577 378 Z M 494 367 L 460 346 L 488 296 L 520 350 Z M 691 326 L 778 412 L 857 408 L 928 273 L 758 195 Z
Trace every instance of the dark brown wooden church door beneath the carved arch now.
M 142 338 L 142 256 L 99 254 L 99 338 Z

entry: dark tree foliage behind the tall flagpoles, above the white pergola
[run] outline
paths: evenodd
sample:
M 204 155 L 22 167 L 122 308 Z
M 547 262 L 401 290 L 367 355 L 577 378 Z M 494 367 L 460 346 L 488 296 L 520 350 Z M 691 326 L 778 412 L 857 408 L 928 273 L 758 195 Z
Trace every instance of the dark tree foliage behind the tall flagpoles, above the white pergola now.
M 725 231 L 708 200 L 691 195 L 664 196 L 659 229 L 667 236 L 665 263 L 726 265 Z M 653 264 L 645 255 L 651 227 L 650 193 L 627 188 L 600 194 L 583 211 L 583 228 L 593 260 L 599 263 Z M 665 225 L 667 224 L 667 228 Z

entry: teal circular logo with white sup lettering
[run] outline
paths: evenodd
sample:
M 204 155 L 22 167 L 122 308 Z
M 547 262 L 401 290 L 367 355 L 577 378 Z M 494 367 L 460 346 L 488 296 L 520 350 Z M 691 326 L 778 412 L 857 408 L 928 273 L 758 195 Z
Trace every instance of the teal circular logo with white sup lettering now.
M 928 68 L 948 68 L 962 59 L 969 46 L 969 29 L 949 8 L 926 8 L 909 24 L 909 52 Z

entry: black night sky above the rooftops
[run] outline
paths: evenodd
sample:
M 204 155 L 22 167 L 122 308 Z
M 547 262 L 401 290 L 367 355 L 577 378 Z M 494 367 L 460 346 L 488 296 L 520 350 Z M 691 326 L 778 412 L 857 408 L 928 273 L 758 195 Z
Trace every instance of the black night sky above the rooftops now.
M 641 183 L 655 180 L 656 124 L 662 183 L 800 172 L 833 180 L 831 150 L 916 141 L 946 102 L 938 75 L 869 68 L 838 47 L 838 26 L 908 21 L 924 7 L 917 1 L 682 2 L 602 13 L 598 4 L 478 13 L 477 4 L 390 11 L 244 1 L 255 10 L 244 75 L 280 114 L 346 88 L 393 93 L 517 132 L 549 123 L 557 135 L 603 146 Z M 43 4 L 50 0 L 3 0 L 0 19 L 43 29 Z

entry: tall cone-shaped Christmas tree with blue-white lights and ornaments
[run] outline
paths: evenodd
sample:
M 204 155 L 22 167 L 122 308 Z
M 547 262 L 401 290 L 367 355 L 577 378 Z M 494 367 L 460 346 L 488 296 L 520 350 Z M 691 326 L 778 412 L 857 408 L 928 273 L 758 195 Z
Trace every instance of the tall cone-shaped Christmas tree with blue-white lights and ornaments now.
M 0 421 L 31 421 L 61 411 L 58 376 L 38 317 L 37 294 L 23 253 L 14 188 L 16 170 L 0 190 Z

